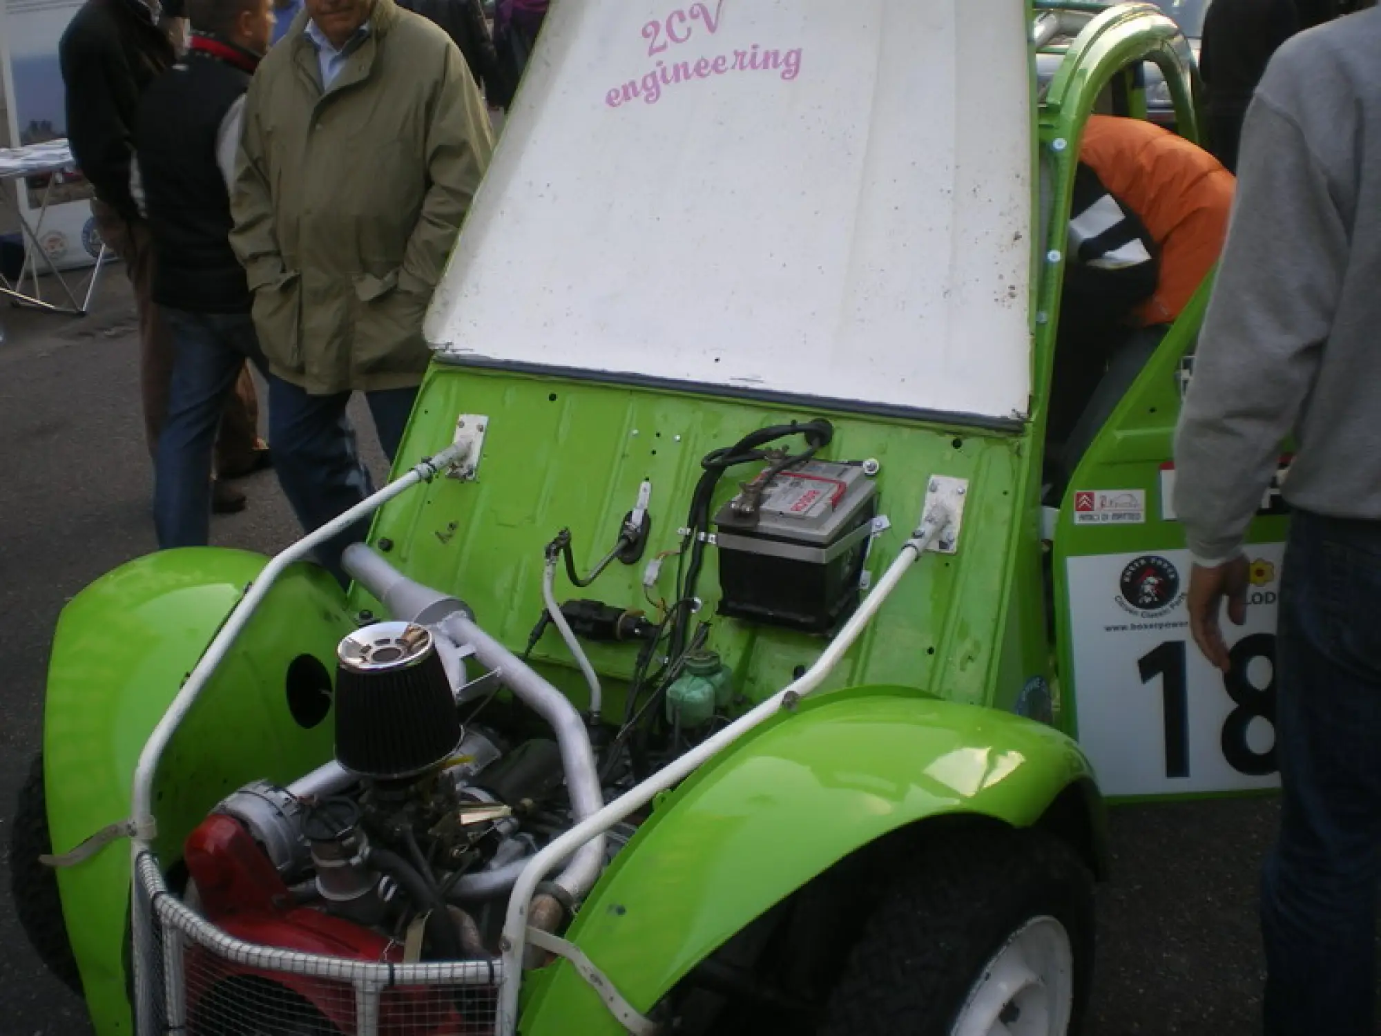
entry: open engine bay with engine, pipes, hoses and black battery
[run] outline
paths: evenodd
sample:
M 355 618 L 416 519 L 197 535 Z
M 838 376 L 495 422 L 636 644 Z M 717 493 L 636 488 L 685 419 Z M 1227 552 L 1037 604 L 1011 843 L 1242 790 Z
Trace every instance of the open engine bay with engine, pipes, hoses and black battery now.
M 189 903 L 280 949 L 394 963 L 497 956 L 510 894 L 533 858 L 747 704 L 699 595 L 708 547 L 720 550 L 720 615 L 830 634 L 858 606 L 869 546 L 885 528 L 878 464 L 820 460 L 831 437 L 823 420 L 772 425 L 707 454 L 679 548 L 650 559 L 650 483 L 588 575 L 562 529 L 544 550 L 545 608 L 521 656 L 461 601 L 351 547 L 347 569 L 392 619 L 337 648 L 336 757 L 287 786 L 254 782 L 224 798 L 185 843 Z M 791 438 L 804 449 L 786 449 Z M 755 470 L 715 512 L 721 478 L 743 467 Z M 671 561 L 667 601 L 657 586 Z M 562 565 L 586 590 L 616 562 L 644 565 L 652 613 L 557 601 Z M 584 711 L 529 664 L 551 627 L 590 687 Z M 590 642 L 635 652 L 621 716 L 603 711 Z M 558 931 L 638 822 L 590 838 L 545 876 L 529 923 Z

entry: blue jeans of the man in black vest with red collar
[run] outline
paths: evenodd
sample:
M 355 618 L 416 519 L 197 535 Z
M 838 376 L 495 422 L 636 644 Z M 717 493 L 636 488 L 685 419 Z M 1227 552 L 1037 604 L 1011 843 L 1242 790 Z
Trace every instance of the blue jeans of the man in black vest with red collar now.
M 204 547 L 211 536 L 211 450 L 244 361 L 267 373 L 246 314 L 189 314 L 163 307 L 173 332 L 168 412 L 153 466 L 159 548 Z

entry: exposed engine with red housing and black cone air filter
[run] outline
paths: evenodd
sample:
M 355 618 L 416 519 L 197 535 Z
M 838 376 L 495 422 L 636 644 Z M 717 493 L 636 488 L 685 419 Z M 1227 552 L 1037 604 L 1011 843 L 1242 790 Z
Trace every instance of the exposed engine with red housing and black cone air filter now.
M 336 760 L 287 787 L 239 789 L 186 840 L 209 920 L 304 952 L 330 937 L 370 960 L 494 956 L 503 901 L 570 826 L 570 796 L 557 740 L 463 724 L 497 689 L 464 681 L 463 653 L 409 622 L 341 641 Z

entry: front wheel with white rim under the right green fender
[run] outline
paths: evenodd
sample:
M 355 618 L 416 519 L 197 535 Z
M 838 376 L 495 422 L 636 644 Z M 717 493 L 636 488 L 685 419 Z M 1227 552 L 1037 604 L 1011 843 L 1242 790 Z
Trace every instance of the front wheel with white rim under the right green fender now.
M 1069 1036 L 1092 978 L 1094 881 L 1041 832 L 940 836 L 906 861 L 820 1036 Z

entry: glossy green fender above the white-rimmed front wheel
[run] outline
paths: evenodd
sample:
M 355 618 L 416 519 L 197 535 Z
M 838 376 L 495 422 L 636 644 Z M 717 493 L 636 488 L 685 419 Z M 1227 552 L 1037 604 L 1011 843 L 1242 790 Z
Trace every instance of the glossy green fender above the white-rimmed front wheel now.
M 1026 827 L 1092 771 L 1065 735 L 992 709 L 863 688 L 765 724 L 659 804 L 570 939 L 639 1011 L 811 879 L 888 832 L 946 814 Z M 530 977 L 523 1036 L 623 1028 L 566 963 Z

